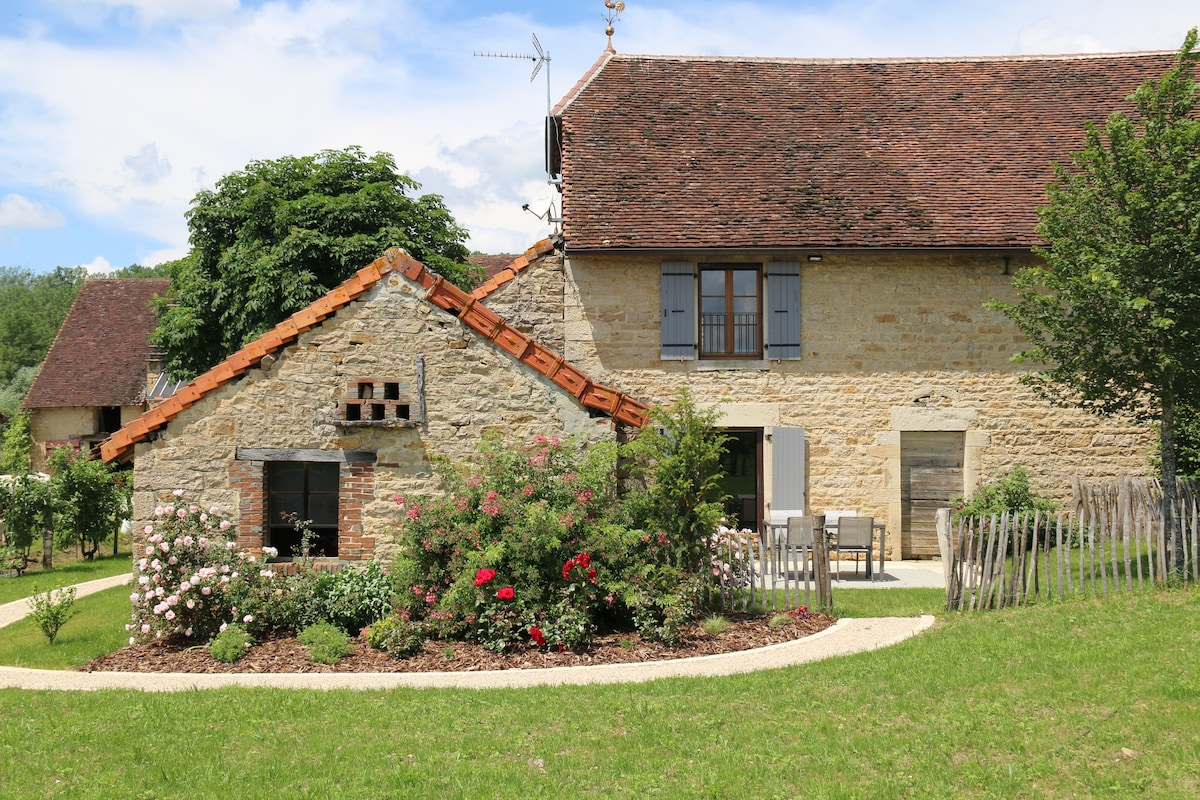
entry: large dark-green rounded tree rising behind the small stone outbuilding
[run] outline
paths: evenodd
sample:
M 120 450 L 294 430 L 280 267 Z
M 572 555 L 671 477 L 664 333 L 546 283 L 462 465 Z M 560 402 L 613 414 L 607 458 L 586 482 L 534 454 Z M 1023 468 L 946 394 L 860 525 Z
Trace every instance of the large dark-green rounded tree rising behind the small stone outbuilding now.
M 467 231 L 440 197 L 409 197 L 418 188 L 390 155 L 348 148 L 256 161 L 197 194 L 192 251 L 168 265 L 172 291 L 158 301 L 167 369 L 203 372 L 389 247 L 469 285 Z

